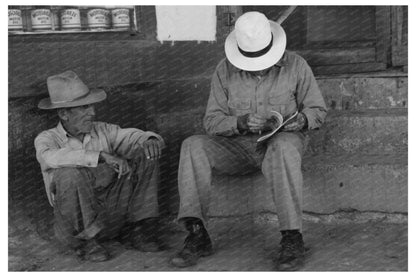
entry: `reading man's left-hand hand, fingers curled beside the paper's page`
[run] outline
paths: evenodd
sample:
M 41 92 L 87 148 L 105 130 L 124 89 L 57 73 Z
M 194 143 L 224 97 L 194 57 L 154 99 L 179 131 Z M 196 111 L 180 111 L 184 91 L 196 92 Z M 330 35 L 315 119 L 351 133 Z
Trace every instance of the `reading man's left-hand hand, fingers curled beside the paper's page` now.
M 275 118 L 266 119 L 259 114 L 245 114 L 239 116 L 237 119 L 237 126 L 239 130 L 249 131 L 260 134 L 263 131 L 269 131 L 274 128 L 276 124 Z

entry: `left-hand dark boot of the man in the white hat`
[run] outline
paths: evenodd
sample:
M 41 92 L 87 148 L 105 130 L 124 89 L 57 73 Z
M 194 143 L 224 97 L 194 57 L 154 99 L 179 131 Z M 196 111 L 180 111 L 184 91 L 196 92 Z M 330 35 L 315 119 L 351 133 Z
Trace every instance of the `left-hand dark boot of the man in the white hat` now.
M 185 238 L 184 247 L 170 260 L 170 263 L 176 267 L 195 265 L 199 257 L 213 253 L 211 239 L 200 220 L 187 222 L 185 226 L 189 234 Z

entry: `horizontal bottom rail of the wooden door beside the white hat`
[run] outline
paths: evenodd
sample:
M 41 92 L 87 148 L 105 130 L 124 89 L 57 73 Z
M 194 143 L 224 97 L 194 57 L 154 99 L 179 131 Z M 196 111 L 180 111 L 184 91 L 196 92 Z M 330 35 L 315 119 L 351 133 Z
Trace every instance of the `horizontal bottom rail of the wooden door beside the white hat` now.
M 310 65 L 333 65 L 375 62 L 374 48 L 358 49 L 314 49 L 296 51 Z

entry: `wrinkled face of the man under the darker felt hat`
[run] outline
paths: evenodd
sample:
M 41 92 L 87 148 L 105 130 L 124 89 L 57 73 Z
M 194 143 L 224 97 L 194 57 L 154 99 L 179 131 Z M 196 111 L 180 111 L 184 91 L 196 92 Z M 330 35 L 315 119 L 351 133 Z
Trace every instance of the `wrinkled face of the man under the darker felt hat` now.
M 65 125 L 73 134 L 86 134 L 91 132 L 95 119 L 94 105 L 84 105 L 65 109 Z

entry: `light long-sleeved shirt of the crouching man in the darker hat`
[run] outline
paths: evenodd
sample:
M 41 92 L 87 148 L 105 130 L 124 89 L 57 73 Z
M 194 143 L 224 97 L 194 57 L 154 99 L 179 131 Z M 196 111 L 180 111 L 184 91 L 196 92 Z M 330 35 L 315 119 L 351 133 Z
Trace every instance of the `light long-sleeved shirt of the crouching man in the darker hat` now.
M 132 159 L 150 137 L 163 142 L 156 133 L 135 128 L 122 129 L 104 122 L 94 122 L 92 131 L 84 136 L 83 141 L 68 134 L 61 122 L 55 128 L 43 131 L 35 139 L 35 148 L 49 202 L 52 204 L 49 191 L 53 169 L 97 167 L 100 151 Z

